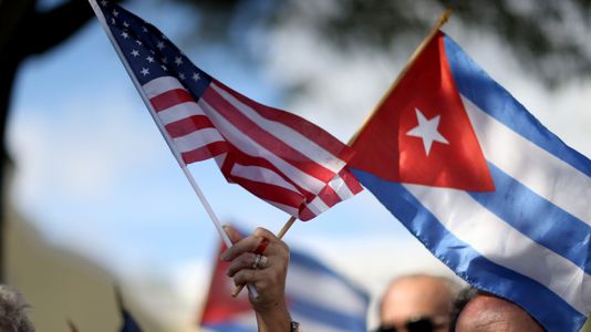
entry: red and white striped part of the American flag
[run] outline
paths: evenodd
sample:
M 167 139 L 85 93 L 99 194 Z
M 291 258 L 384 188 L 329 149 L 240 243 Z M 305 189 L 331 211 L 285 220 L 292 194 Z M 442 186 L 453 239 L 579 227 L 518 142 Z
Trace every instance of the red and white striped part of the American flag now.
M 229 181 L 301 220 L 361 191 L 345 168 L 349 147 L 297 115 L 216 80 L 197 102 L 173 76 L 143 87 L 185 163 L 218 156 Z

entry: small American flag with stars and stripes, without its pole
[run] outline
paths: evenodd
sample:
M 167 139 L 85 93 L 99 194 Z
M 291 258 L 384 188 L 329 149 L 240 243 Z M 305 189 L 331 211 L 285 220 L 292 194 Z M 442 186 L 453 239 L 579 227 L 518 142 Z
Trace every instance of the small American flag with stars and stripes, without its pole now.
M 228 181 L 300 220 L 362 190 L 345 167 L 352 156 L 346 145 L 297 115 L 224 85 L 158 29 L 120 6 L 98 4 L 98 19 L 186 164 L 215 157 Z

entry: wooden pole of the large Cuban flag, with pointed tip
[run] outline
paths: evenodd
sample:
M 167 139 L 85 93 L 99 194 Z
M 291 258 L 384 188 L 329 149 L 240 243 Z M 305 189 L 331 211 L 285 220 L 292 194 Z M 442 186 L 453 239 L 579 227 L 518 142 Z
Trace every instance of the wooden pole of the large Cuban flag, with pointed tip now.
M 411 55 L 411 59 L 408 60 L 408 63 L 406 63 L 406 66 L 403 69 L 403 71 L 398 74 L 398 76 L 396 77 L 396 81 L 394 81 L 394 83 L 392 83 L 392 85 L 390 86 L 390 89 L 387 90 L 387 92 L 382 96 L 382 98 L 380 100 L 380 102 L 375 105 L 374 110 L 370 113 L 370 115 L 365 118 L 365 121 L 363 122 L 363 124 L 359 127 L 359 129 L 355 132 L 355 134 L 353 136 L 351 136 L 351 138 L 349 139 L 349 142 L 346 143 L 346 145 L 351 146 L 353 145 L 353 143 L 355 143 L 355 141 L 359 137 L 359 134 L 363 131 L 363 128 L 365 128 L 365 126 L 367 125 L 367 123 L 372 120 L 372 117 L 374 116 L 375 112 L 377 112 L 377 110 L 380 110 L 380 107 L 382 106 L 382 104 L 384 103 L 384 101 L 386 100 L 386 97 L 390 95 L 390 93 L 398 85 L 400 81 L 402 80 L 402 77 L 404 77 L 404 75 L 406 74 L 406 72 L 408 71 L 408 69 L 411 68 L 411 65 L 415 62 L 416 58 L 418 56 L 418 54 L 421 54 L 421 52 L 423 52 L 423 50 L 425 49 L 425 46 L 427 45 L 427 43 L 433 39 L 433 37 L 437 33 L 437 31 L 439 31 L 439 29 L 447 22 L 447 20 L 449 19 L 449 17 L 452 15 L 452 10 L 450 9 L 446 9 L 442 15 L 439 17 L 439 19 L 437 20 L 437 22 L 435 22 L 435 24 L 433 25 L 433 28 L 431 29 L 429 33 L 425 37 L 425 39 L 423 39 L 423 41 L 421 42 L 421 44 L 418 44 L 418 46 L 416 48 L 415 52 L 413 53 L 413 55 Z M 288 232 L 288 230 L 290 229 L 290 227 L 293 225 L 293 222 L 296 221 L 296 217 L 291 217 L 289 218 L 289 220 L 286 222 L 286 225 L 283 226 L 283 228 L 281 228 L 281 231 L 279 231 L 279 234 L 277 235 L 277 237 L 279 239 L 282 239 L 283 236 Z M 232 297 L 237 297 L 241 291 L 242 289 L 245 288 L 243 284 L 240 284 L 240 286 L 237 286 L 235 287 L 234 291 L 232 291 Z

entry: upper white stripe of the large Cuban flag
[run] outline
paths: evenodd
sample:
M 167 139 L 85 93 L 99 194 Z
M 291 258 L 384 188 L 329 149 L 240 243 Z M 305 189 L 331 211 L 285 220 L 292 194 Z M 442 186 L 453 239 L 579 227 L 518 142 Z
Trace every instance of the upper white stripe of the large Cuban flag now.
M 536 194 L 591 225 L 591 178 L 462 96 L 485 158 Z M 508 148 L 510 147 L 510 148 Z

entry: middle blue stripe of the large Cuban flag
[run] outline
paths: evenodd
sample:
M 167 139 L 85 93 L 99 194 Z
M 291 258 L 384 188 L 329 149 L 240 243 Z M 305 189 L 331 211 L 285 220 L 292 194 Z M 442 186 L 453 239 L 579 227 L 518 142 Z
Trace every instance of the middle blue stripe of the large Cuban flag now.
M 567 258 L 585 272 L 589 226 L 488 163 L 494 193 L 469 193 L 485 208 L 539 245 Z M 577 243 L 573 246 L 573 243 Z

